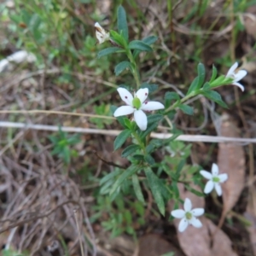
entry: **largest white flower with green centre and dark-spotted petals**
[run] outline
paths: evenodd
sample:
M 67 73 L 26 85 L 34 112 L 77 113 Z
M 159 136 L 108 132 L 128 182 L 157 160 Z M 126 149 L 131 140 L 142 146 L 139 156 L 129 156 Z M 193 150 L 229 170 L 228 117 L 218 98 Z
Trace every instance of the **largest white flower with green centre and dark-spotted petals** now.
M 147 129 L 148 119 L 144 111 L 152 111 L 157 109 L 163 109 L 165 106 L 160 102 L 147 102 L 148 88 L 137 90 L 134 97 L 129 90 L 125 88 L 118 89 L 119 96 L 127 104 L 127 106 L 119 107 L 113 113 L 114 117 L 134 113 L 134 119 L 142 131 Z

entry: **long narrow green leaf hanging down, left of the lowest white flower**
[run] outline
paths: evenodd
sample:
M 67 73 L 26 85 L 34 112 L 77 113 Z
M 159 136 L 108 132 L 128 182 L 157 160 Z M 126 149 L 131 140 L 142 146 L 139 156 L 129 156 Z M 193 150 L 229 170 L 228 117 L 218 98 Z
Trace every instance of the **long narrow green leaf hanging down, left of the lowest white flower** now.
M 149 167 L 145 169 L 145 173 L 146 173 L 146 176 L 148 178 L 148 184 L 149 184 L 149 187 L 150 187 L 150 189 L 152 191 L 152 194 L 154 196 L 154 200 L 157 204 L 157 207 L 159 208 L 160 213 L 163 216 L 165 216 L 166 209 L 165 209 L 165 202 L 164 202 L 163 196 L 160 193 L 160 191 L 161 191 L 160 180 L 154 174 L 154 172 L 152 172 L 151 168 L 149 168 Z

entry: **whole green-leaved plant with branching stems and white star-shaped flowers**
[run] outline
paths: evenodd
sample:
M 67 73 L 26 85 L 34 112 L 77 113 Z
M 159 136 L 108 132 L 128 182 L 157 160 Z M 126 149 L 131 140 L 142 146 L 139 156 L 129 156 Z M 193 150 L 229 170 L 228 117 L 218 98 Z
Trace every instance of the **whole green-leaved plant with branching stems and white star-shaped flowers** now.
M 196 195 L 203 196 L 201 191 L 190 187 L 190 184 L 195 183 L 203 189 L 203 178 L 201 177 L 203 175 L 203 177 L 210 180 L 205 192 L 209 193 L 215 186 L 218 194 L 220 194 L 220 183 L 224 182 L 227 177 L 222 177 L 217 172 L 207 174 L 203 171 L 200 174 L 199 167 L 185 165 L 185 157 L 182 154 L 175 155 L 173 159 L 170 156 L 168 158 L 165 156 L 165 159 L 160 163 L 155 162 L 154 151 L 161 148 L 163 153 L 170 152 L 174 139 L 180 133 L 173 129 L 171 132 L 174 135 L 166 140 L 151 139 L 150 133 L 157 128 L 165 117 L 172 120 L 173 114 L 178 109 L 181 109 L 183 113 L 192 115 L 193 108 L 186 102 L 198 95 L 205 96 L 226 108 L 221 96 L 214 89 L 222 85 L 234 84 L 243 90 L 243 86 L 238 84 L 238 81 L 247 72 L 239 71 L 235 73 L 237 67 L 237 63 L 235 63 L 227 75 L 218 76 L 217 69 L 213 66 L 212 77 L 210 80 L 206 80 L 206 69 L 202 63 L 199 63 L 197 66 L 198 75 L 190 84 L 185 96 L 181 98 L 177 92 L 168 91 L 161 102 L 154 102 L 151 99 L 154 97 L 153 93 L 158 89 L 158 86 L 157 84 L 142 82 L 137 61 L 139 61 L 141 52 L 150 53 L 153 51 L 152 44 L 156 42 L 157 38 L 149 36 L 142 40 L 131 40 L 125 9 L 122 6 L 119 6 L 117 17 L 118 31 L 110 30 L 110 32 L 106 32 L 99 23 L 96 23 L 96 38 L 99 44 L 105 44 L 107 47 L 98 53 L 98 58 L 110 54 L 124 55 L 124 61 L 121 61 L 114 68 L 114 73 L 119 76 L 125 69 L 129 69 L 134 78 L 134 81 L 129 79 L 117 89 L 117 93 L 121 100 L 125 102 L 125 105 L 120 102 L 121 107 L 113 107 L 112 109 L 113 115 L 117 117 L 119 124 L 123 127 L 123 131 L 115 138 L 113 147 L 114 150 L 121 148 L 127 139 L 131 138 L 129 140 L 130 145 L 124 148 L 122 152 L 122 157 L 130 161 L 130 166 L 124 170 L 116 169 L 103 177 L 101 182 L 102 191 L 104 191 L 104 194 L 108 193 L 110 198 L 114 200 L 117 195 L 123 193 L 127 186 L 130 186 L 134 189 L 137 200 L 144 202 L 143 184 L 151 190 L 154 201 L 162 215 L 165 215 L 167 201 L 175 201 L 175 208 L 177 208 L 178 202 L 184 200 L 184 198 L 179 198 L 177 183 L 183 183 L 186 189 Z M 171 163 L 172 167 L 175 166 L 175 169 L 170 170 L 168 163 Z M 213 167 L 216 170 L 218 168 L 218 166 Z M 193 212 L 189 199 L 184 201 L 184 207 L 184 211 L 176 210 L 174 213 L 172 212 L 173 217 L 182 218 L 180 231 L 185 230 L 188 224 L 200 227 L 201 223 L 195 217 L 203 214 L 203 209 L 200 209 L 199 212 Z

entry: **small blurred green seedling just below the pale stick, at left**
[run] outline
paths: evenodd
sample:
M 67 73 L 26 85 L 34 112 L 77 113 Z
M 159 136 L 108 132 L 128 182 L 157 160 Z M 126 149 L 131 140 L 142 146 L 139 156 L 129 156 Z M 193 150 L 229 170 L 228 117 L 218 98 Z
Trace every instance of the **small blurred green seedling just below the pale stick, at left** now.
M 78 155 L 78 152 L 71 146 L 80 143 L 79 134 L 68 136 L 67 132 L 61 131 L 61 126 L 59 126 L 58 134 L 49 136 L 49 140 L 54 147 L 51 154 L 56 154 L 65 164 L 70 164 L 71 158 Z

